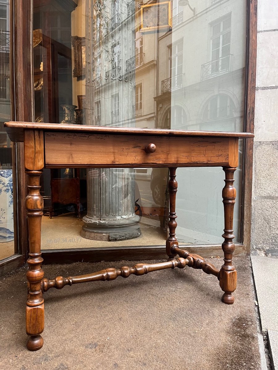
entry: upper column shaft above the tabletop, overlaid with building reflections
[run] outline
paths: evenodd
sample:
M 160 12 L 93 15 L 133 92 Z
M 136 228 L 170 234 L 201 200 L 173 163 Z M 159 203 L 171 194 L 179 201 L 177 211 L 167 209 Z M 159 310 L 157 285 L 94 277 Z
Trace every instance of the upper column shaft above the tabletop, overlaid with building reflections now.
M 130 4 L 129 4 L 130 6 Z M 134 4 L 133 4 L 134 7 Z M 88 6 L 87 124 L 133 126 L 135 83 L 135 44 L 130 35 L 134 12 L 119 0 L 96 1 Z M 125 20 L 125 22 L 123 22 Z M 140 61 L 133 61 L 133 64 Z M 90 66 L 93 65 L 93 68 Z

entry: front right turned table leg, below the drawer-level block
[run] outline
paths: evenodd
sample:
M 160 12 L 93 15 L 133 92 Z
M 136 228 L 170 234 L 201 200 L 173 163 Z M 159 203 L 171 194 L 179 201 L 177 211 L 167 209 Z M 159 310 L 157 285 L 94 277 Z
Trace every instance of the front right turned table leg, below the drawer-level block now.
M 222 301 L 228 305 L 232 305 L 235 301 L 232 292 L 236 289 L 236 270 L 233 265 L 232 258 L 235 250 L 233 218 L 236 190 L 234 188 L 234 172 L 236 168 L 223 167 L 225 172 L 225 186 L 222 191 L 224 203 L 224 242 L 222 249 L 224 252 L 224 264 L 219 272 L 219 285 L 224 291 Z

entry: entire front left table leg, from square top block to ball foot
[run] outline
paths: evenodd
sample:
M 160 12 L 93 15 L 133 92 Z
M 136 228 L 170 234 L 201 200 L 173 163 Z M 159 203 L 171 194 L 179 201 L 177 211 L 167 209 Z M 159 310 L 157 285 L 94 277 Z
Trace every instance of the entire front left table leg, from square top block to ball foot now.
M 26 215 L 29 226 L 29 269 L 26 273 L 28 296 L 26 302 L 26 333 L 30 336 L 27 348 L 36 351 L 43 346 L 40 334 L 44 328 L 44 301 L 41 284 L 43 281 L 40 232 L 43 215 L 43 198 L 40 195 L 40 175 L 44 167 L 43 132 L 24 131 L 24 166 L 28 177 Z

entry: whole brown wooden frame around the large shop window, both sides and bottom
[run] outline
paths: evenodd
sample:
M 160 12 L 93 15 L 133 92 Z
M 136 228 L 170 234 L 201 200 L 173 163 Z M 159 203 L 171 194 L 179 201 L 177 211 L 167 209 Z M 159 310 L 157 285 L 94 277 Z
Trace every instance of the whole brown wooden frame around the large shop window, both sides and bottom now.
M 254 133 L 254 110 L 255 110 L 255 79 L 257 57 L 257 0 L 246 0 L 246 85 L 244 101 L 245 131 Z M 13 0 L 10 4 L 11 24 L 14 26 L 14 36 L 11 32 L 11 40 L 14 52 L 11 53 L 11 97 L 14 118 L 17 121 L 33 121 L 33 67 L 32 67 L 32 24 L 33 24 L 33 1 Z M 27 21 L 26 21 L 27 20 Z M 253 141 L 246 139 L 244 146 L 243 184 L 242 184 L 242 215 L 241 215 L 241 241 L 236 244 L 235 255 L 250 253 L 251 240 L 251 191 L 252 191 L 252 158 Z M 27 259 L 27 225 L 24 209 L 25 202 L 25 174 L 23 166 L 23 146 L 18 143 L 14 148 L 17 162 L 17 184 L 20 189 L 16 194 L 18 199 L 18 212 L 16 222 L 18 225 L 15 243 L 19 245 L 18 253 L 0 262 L 0 275 L 21 266 Z M 15 163 L 14 163 L 15 165 Z M 221 244 L 186 246 L 188 250 L 209 257 L 218 255 Z M 64 250 L 43 250 L 44 262 L 46 263 L 71 263 L 77 261 L 98 262 L 100 260 L 136 260 L 155 259 L 165 257 L 164 246 L 150 247 L 110 247 L 110 248 L 84 248 Z

